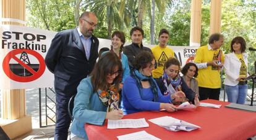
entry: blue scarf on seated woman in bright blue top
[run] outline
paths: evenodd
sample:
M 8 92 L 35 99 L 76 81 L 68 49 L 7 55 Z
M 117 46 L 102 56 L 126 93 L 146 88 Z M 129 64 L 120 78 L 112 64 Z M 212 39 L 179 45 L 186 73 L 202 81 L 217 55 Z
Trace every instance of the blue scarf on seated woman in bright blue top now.
M 153 101 L 157 102 L 158 101 L 158 89 L 157 89 L 157 84 L 153 77 L 151 76 L 143 76 L 138 70 L 134 70 L 131 72 L 130 76 L 136 80 L 136 85 L 139 88 L 139 93 L 140 96 L 142 96 L 142 83 L 140 81 L 148 81 L 150 83 L 150 88 L 153 92 L 154 99 Z

